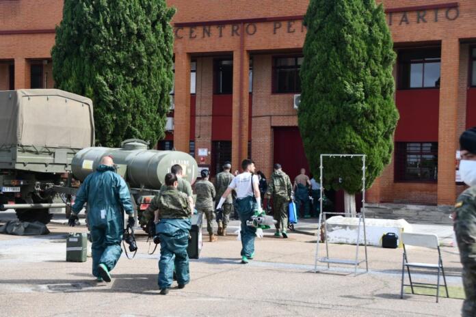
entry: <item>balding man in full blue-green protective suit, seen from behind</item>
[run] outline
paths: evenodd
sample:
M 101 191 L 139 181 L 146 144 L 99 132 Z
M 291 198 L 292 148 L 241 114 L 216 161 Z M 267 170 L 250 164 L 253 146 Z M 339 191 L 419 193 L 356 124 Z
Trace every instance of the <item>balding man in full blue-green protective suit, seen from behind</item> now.
M 114 172 L 110 156 L 101 159 L 96 171 L 84 180 L 72 206 L 69 224 L 74 226 L 77 215 L 88 203 L 88 223 L 92 239 L 92 275 L 98 281 L 111 281 L 110 271 L 116 266 L 122 249 L 124 210 L 129 225 L 134 225 L 134 210 L 126 182 Z

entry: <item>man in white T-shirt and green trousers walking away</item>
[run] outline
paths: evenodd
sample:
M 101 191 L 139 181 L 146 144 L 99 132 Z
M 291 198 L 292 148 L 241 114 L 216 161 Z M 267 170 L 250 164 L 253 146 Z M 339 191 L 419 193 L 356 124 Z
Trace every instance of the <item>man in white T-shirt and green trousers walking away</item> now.
M 237 210 L 239 220 L 241 221 L 241 263 L 246 264 L 254 258 L 254 238 L 256 228 L 246 225 L 254 215 L 254 210 L 262 211 L 261 196 L 259 193 L 258 176 L 254 173 L 254 162 L 248 159 L 241 162 L 243 172 L 233 178 L 228 189 L 223 193 L 217 209 L 222 208 L 226 197 L 235 189 L 237 192 Z

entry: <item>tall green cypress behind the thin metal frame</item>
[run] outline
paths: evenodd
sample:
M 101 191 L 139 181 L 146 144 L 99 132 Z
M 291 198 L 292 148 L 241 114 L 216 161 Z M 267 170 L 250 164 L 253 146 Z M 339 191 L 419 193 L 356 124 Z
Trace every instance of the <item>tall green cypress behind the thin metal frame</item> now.
M 369 188 L 391 161 L 399 118 L 384 10 L 375 0 L 310 0 L 304 24 L 298 121 L 310 169 L 319 175 L 320 154 L 367 154 Z M 359 158 L 324 166 L 325 187 L 362 190 Z

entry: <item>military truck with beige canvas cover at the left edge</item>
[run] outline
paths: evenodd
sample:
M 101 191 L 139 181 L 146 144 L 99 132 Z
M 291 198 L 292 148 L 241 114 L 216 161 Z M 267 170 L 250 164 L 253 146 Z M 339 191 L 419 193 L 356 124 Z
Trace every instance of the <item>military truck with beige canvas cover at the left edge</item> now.
M 89 98 L 59 89 L 0 92 L 0 210 L 21 221 L 49 223 L 72 157 L 94 145 Z M 66 195 L 68 199 L 69 195 Z

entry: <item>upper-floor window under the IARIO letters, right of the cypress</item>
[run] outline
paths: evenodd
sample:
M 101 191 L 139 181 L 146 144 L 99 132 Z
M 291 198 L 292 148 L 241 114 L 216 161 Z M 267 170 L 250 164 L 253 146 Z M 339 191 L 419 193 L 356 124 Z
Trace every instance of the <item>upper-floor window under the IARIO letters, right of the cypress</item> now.
M 399 53 L 399 89 L 440 87 L 440 49 Z

